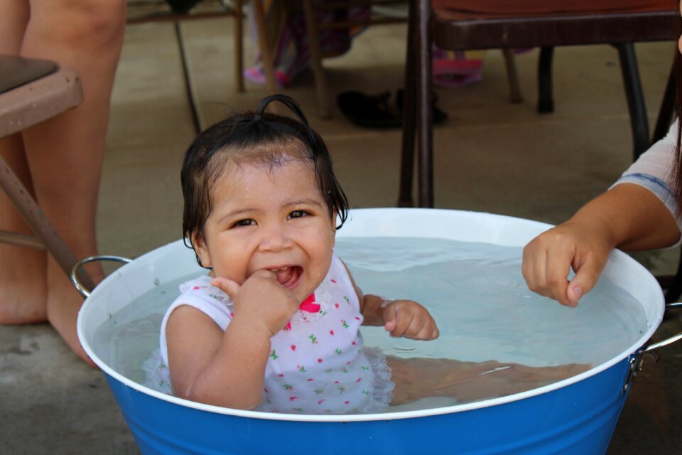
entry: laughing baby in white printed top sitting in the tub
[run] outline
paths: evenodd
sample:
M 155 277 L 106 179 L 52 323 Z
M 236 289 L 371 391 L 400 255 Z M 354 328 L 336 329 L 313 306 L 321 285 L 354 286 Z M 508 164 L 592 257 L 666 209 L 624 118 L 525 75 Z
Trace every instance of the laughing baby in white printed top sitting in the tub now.
M 298 120 L 266 113 L 275 101 Z M 179 397 L 372 413 L 428 396 L 519 392 L 584 369 L 402 359 L 363 346 L 363 324 L 424 341 L 438 338 L 438 326 L 415 301 L 363 294 L 335 256 L 347 199 L 323 140 L 290 97 L 266 97 L 200 134 L 182 186 L 185 241 L 210 272 L 180 287 L 161 325 L 161 365 Z

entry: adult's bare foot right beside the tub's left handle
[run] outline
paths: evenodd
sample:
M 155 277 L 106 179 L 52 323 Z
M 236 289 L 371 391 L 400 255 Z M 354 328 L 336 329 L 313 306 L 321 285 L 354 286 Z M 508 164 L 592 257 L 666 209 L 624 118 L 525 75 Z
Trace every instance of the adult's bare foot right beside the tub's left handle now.
M 52 259 L 50 259 L 48 267 L 48 321 L 50 321 L 50 324 L 59 332 L 60 336 L 78 357 L 85 360 L 85 363 L 90 365 L 91 368 L 97 368 L 97 365 L 90 360 L 80 345 L 76 333 L 76 321 L 78 311 L 83 304 L 83 297 L 76 291 L 70 279 Z M 89 272 L 94 282 L 99 283 L 102 281 L 101 269 L 99 273 Z

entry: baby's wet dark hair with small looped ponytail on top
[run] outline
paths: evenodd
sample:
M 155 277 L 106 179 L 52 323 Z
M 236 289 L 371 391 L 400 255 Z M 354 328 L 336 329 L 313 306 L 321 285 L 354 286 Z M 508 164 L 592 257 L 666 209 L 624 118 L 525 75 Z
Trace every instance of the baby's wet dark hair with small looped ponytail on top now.
M 265 112 L 271 102 L 281 102 L 298 119 Z M 347 218 L 348 200 L 332 168 L 329 151 L 320 135 L 310 128 L 301 107 L 286 95 L 270 95 L 255 111 L 236 112 L 205 129 L 185 152 L 180 183 L 183 188 L 183 238 L 202 235 L 212 210 L 211 188 L 227 166 L 269 164 L 283 159 L 310 164 L 330 216 L 337 213 L 340 228 Z M 191 245 L 188 245 L 191 247 Z

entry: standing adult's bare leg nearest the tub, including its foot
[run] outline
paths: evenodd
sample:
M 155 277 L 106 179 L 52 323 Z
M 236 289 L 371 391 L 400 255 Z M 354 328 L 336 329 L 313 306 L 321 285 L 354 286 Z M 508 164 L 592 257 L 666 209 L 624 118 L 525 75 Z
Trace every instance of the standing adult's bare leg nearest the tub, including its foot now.
M 79 107 L 22 133 L 38 204 L 76 257 L 97 253 L 97 192 L 125 11 L 125 0 L 33 0 L 21 44 L 21 55 L 68 65 L 82 80 Z M 88 272 L 102 279 L 99 267 Z M 50 257 L 45 276 L 48 321 L 86 358 L 75 331 L 82 297 Z

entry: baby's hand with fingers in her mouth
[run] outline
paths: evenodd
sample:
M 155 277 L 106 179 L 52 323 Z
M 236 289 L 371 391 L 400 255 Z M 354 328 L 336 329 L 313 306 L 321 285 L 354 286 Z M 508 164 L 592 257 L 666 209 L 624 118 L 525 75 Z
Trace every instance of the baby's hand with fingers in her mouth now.
M 241 285 L 224 277 L 212 279 L 211 284 L 232 299 L 234 321 L 248 323 L 254 330 L 274 336 L 289 322 L 301 302 L 281 286 L 271 270 L 258 270 Z

